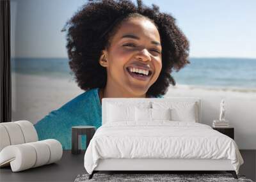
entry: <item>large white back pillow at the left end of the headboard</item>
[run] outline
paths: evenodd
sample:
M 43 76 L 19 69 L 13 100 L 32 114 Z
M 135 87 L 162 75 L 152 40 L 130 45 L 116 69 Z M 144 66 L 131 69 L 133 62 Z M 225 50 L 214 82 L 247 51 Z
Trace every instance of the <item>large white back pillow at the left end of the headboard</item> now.
M 107 122 L 134 121 L 135 107 L 108 104 Z

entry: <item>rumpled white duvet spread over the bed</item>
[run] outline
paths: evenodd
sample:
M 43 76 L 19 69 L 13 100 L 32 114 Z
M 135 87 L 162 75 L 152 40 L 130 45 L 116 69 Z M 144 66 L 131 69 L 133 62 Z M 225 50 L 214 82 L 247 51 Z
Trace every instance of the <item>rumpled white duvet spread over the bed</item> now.
M 236 142 L 210 126 L 178 121 L 100 126 L 84 155 L 89 174 L 105 158 L 229 159 L 238 174 L 243 158 Z

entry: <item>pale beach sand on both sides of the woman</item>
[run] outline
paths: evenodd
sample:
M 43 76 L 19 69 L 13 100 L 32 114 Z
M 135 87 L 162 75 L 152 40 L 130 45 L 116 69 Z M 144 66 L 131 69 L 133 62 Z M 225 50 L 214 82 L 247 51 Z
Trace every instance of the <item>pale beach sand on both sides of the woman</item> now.
M 12 120 L 36 123 L 51 110 L 60 108 L 84 91 L 71 79 L 12 73 Z M 221 99 L 226 102 L 225 118 L 235 128 L 239 149 L 256 149 L 256 90 L 198 86 L 170 86 L 164 97 L 195 96 L 202 99 L 202 123 L 218 119 Z

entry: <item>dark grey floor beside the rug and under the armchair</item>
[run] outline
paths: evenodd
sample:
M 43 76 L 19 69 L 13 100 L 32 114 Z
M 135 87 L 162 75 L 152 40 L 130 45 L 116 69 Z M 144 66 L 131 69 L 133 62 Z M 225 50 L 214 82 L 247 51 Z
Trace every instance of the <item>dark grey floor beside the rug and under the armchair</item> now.
M 244 164 L 239 174 L 246 178 L 256 179 L 256 150 L 241 150 Z M 12 172 L 10 167 L 0 169 L 0 181 L 74 181 L 78 174 L 86 173 L 84 169 L 84 152 L 72 155 L 71 151 L 63 151 L 63 157 L 57 163 L 36 167 L 21 172 Z

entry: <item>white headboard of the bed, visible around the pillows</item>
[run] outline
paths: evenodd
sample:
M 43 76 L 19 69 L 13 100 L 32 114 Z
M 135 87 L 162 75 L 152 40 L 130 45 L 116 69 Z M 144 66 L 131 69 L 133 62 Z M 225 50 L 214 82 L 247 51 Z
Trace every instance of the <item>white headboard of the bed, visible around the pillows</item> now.
M 102 125 L 106 123 L 108 103 L 120 103 L 122 105 L 140 105 L 140 103 L 159 102 L 195 102 L 197 106 L 198 121 L 201 123 L 201 99 L 199 97 L 166 97 L 166 98 L 103 98 L 102 99 Z

